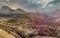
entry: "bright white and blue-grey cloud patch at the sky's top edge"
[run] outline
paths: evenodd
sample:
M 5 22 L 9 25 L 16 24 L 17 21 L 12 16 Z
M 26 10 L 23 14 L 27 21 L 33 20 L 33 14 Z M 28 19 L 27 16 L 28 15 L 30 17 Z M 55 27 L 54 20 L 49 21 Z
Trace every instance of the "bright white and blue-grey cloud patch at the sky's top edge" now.
M 45 8 L 47 5 L 54 0 L 27 0 L 29 4 L 38 5 L 38 7 Z M 51 6 L 51 5 L 49 5 Z

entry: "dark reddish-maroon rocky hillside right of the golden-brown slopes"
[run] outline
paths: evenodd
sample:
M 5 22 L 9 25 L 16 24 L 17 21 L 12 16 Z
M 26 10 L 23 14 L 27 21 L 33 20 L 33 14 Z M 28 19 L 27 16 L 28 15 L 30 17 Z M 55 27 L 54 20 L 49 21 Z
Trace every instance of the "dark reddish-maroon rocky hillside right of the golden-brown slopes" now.
M 31 19 L 36 24 L 39 35 L 52 36 L 52 34 L 56 31 L 57 24 L 54 21 L 51 21 L 53 20 L 51 17 L 50 20 L 49 18 L 47 18 L 48 16 L 44 14 L 31 14 L 30 16 L 32 16 Z

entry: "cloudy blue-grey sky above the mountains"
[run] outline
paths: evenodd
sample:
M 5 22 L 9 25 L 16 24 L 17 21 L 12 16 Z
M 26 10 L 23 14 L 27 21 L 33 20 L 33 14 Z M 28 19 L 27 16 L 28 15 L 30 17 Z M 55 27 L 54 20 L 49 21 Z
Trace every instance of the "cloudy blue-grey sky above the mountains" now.
M 60 0 L 0 0 L 0 7 L 4 5 L 12 9 L 21 8 L 31 12 L 51 13 L 60 9 Z

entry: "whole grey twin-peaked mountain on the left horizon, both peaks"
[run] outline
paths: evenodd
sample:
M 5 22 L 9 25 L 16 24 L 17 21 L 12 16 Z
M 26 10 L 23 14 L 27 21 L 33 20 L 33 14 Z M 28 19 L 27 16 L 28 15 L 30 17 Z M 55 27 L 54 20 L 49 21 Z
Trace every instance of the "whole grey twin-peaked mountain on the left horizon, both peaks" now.
M 10 9 L 8 6 L 2 6 L 0 9 L 0 14 L 22 14 L 25 13 L 22 9 Z

